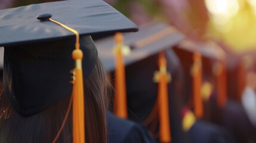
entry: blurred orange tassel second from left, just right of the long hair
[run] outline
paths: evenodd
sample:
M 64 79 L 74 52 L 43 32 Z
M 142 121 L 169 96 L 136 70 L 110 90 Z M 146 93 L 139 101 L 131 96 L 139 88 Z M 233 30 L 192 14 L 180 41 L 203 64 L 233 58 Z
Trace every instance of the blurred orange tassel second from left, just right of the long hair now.
M 121 33 L 116 33 L 116 70 L 115 70 L 115 90 L 114 113 L 121 118 L 127 118 L 127 95 L 125 88 L 125 67 L 122 56 L 123 37 Z

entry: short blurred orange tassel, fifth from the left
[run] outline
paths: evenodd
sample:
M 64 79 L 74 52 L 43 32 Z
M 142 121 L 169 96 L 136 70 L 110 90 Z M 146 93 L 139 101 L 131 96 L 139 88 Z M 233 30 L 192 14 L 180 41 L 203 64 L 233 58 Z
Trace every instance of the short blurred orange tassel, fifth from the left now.
M 214 64 L 214 75 L 217 77 L 217 105 L 223 108 L 227 102 L 227 76 L 224 62 Z

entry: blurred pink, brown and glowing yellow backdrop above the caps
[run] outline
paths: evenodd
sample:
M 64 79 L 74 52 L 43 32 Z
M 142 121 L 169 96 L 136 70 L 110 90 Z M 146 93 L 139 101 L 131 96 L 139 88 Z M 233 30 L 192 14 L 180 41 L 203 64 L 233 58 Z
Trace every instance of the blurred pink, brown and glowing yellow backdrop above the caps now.
M 0 9 L 53 0 L 1 0 Z M 253 51 L 256 45 L 254 0 L 105 0 L 141 25 L 162 20 L 194 41 L 213 40 L 229 52 Z

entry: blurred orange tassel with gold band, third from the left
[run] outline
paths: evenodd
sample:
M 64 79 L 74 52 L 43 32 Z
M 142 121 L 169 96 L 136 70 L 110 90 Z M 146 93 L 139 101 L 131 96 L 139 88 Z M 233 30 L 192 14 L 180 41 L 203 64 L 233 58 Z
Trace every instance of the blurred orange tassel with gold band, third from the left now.
M 171 75 L 166 70 L 164 52 L 159 53 L 159 69 L 153 78 L 154 82 L 158 82 L 159 138 L 161 142 L 171 142 L 167 86 L 168 82 L 171 81 Z

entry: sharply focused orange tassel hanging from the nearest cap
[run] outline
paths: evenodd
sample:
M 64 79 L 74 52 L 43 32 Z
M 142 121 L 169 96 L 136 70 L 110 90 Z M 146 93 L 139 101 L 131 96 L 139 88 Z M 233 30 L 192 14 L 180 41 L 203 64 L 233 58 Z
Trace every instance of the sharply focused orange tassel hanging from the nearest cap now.
M 81 49 L 75 49 L 72 53 L 75 60 L 75 69 L 73 70 L 73 142 L 85 142 L 85 117 L 84 117 L 84 83 L 82 75 L 82 57 Z

